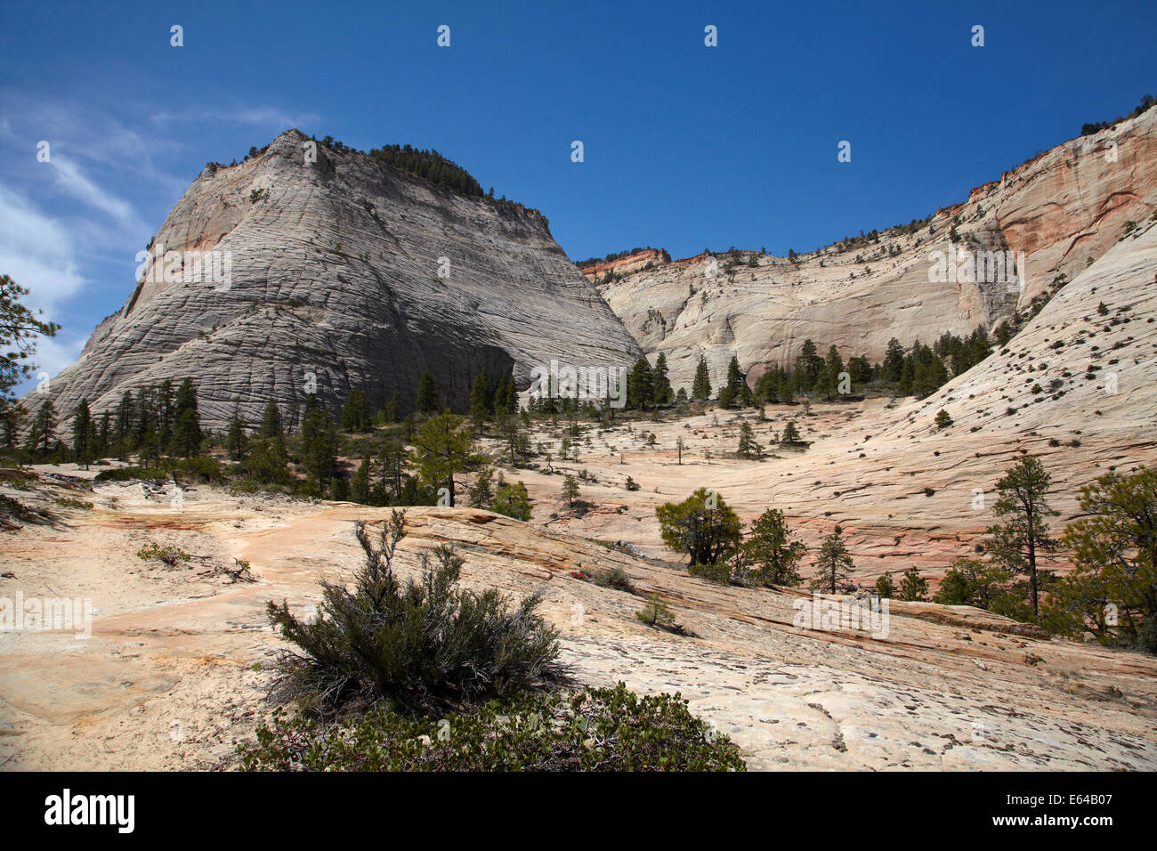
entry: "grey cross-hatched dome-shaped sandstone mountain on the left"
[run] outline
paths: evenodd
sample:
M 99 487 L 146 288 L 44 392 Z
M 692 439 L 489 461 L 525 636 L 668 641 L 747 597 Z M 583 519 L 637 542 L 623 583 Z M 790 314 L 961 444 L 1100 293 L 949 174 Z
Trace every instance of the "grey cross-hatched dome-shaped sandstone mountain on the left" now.
M 525 383 L 552 358 L 640 357 L 541 214 L 348 148 L 318 144 L 307 162 L 305 145 L 288 131 L 242 164 L 206 166 L 156 233 L 160 258 L 142 264 L 125 307 L 52 380 L 59 415 L 81 398 L 100 413 L 126 389 L 185 376 L 212 428 L 234 403 L 252 423 L 267 401 L 300 403 L 315 384 L 331 408 L 366 389 L 371 405 L 397 393 L 405 412 L 425 369 L 460 408 L 482 368 L 513 368 Z M 162 250 L 180 252 L 176 276 Z M 25 408 L 43 398 L 30 394 Z

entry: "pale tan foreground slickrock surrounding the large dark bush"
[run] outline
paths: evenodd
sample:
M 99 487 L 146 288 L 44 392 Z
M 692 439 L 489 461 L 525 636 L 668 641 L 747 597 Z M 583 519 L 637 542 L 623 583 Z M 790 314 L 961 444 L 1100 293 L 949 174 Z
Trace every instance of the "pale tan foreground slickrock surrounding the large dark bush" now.
M 74 493 L 64 485 L 60 492 Z M 346 578 L 353 521 L 384 509 L 190 489 L 184 511 L 137 484 L 101 485 L 46 537 L 5 535 L 0 594 L 90 596 L 93 638 L 0 633 L 0 770 L 204 768 L 271 707 L 264 602 L 309 610 L 317 580 Z M 469 508 L 411 508 L 400 570 L 450 541 L 464 581 L 545 588 L 580 682 L 680 691 L 753 769 L 1154 769 L 1157 660 L 1014 634 L 966 608 L 897 604 L 886 637 L 793 625 L 802 595 L 724 588 L 666 564 Z M 148 567 L 145 542 L 205 558 Z M 198 575 L 245 558 L 258 581 Z M 638 595 L 575 579 L 619 566 Z M 641 624 L 658 593 L 695 637 Z M 937 622 L 941 621 L 941 622 Z M 1039 661 L 1034 661 L 1039 658 Z M 257 668 L 255 668 L 257 666 Z

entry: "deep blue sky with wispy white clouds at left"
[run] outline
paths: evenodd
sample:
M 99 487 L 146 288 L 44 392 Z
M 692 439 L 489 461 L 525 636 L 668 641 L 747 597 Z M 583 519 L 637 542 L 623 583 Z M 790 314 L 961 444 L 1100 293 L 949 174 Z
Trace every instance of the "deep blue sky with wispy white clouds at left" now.
M 1157 94 L 1157 5 L 1135 2 L 5 0 L 0 34 L 0 272 L 65 325 L 50 373 L 204 164 L 288 127 L 437 148 L 573 258 L 783 255 L 922 218 Z

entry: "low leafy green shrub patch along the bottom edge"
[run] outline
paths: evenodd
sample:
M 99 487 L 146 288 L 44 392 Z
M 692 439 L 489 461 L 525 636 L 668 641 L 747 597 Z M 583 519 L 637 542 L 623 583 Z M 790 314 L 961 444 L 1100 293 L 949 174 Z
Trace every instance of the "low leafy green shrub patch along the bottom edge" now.
M 274 714 L 245 771 L 744 771 L 739 749 L 679 695 L 519 692 L 477 712 L 415 717 L 378 706 L 344 724 Z

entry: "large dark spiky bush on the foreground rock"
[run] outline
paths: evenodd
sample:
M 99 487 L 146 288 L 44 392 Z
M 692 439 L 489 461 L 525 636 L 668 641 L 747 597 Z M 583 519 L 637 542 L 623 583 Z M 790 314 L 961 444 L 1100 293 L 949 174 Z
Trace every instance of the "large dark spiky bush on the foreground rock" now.
M 458 588 L 462 559 L 445 544 L 422 553 L 420 581 L 403 585 L 391 565 L 404 512 L 392 512 L 377 548 L 363 523 L 354 533 L 366 564 L 353 590 L 323 581 L 311 622 L 268 603 L 274 628 L 300 650 L 278 658 L 282 696 L 323 716 L 379 700 L 432 711 L 563 677 L 558 630 L 535 614 L 539 592 L 511 609 L 494 588 Z

